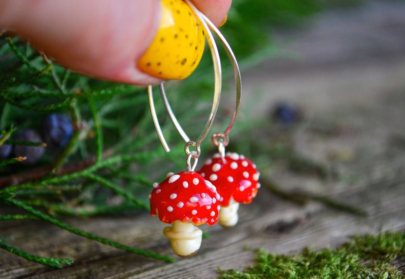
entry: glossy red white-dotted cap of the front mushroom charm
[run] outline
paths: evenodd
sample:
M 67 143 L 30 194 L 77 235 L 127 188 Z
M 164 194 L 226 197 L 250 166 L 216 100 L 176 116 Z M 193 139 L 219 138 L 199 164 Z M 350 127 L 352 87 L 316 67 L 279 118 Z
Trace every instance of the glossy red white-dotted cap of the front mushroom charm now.
M 192 221 L 194 225 L 218 222 L 220 199 L 216 187 L 196 172 L 168 174 L 161 183 L 154 183 L 150 195 L 150 215 L 162 222 Z

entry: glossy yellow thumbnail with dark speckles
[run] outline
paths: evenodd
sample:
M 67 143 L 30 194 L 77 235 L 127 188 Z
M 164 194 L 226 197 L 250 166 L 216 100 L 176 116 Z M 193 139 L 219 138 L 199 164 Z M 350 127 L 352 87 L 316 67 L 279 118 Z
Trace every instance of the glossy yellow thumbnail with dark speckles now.
M 162 0 L 159 30 L 138 61 L 138 68 L 163 79 L 183 79 L 197 67 L 204 51 L 201 22 L 183 0 Z

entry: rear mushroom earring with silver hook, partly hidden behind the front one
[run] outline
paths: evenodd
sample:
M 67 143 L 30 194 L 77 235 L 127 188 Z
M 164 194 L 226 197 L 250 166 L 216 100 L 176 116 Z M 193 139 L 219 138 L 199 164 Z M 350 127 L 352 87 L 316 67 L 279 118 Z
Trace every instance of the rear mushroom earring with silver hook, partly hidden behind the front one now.
M 210 26 L 214 32 L 215 26 Z M 219 224 L 225 228 L 233 227 L 237 224 L 239 216 L 239 204 L 249 204 L 256 197 L 260 188 L 260 173 L 256 165 L 243 155 L 237 153 L 226 153 L 225 147 L 229 144 L 229 133 L 235 122 L 240 100 L 241 100 L 241 77 L 234 53 L 226 40 L 218 32 L 228 57 L 230 58 L 236 82 L 236 102 L 234 113 L 229 126 L 223 133 L 216 133 L 212 137 L 212 142 L 218 147 L 218 153 L 197 171 L 202 177 L 217 185 L 217 191 L 221 196 L 219 205 Z

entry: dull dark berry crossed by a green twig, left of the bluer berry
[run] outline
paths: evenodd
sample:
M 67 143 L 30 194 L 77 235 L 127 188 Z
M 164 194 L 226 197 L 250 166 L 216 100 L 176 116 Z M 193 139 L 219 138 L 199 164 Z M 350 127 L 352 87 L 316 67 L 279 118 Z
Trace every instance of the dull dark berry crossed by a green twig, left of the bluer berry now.
M 32 143 L 42 142 L 39 133 L 32 129 L 21 130 L 15 135 L 14 140 Z M 22 161 L 24 164 L 33 164 L 41 158 L 44 151 L 43 146 L 15 145 L 13 152 L 16 157 L 27 157 L 26 160 Z

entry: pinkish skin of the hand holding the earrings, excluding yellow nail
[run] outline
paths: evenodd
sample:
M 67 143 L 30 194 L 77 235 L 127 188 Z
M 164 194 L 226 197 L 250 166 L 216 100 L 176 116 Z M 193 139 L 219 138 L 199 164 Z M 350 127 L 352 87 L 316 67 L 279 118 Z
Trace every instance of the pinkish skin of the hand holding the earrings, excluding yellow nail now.
M 218 25 L 232 0 L 191 0 Z M 3 0 L 0 29 L 17 32 L 72 70 L 136 85 L 162 80 L 137 68 L 157 33 L 160 0 Z

